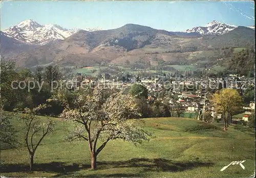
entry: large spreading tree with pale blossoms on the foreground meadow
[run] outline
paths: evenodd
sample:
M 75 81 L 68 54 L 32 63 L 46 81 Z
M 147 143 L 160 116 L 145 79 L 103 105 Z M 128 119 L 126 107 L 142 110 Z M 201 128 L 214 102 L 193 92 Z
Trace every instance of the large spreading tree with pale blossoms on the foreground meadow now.
M 131 143 L 149 140 L 151 134 L 138 126 L 140 113 L 137 100 L 114 89 L 96 87 L 76 93 L 74 107 L 67 105 L 59 93 L 52 99 L 66 105 L 61 117 L 74 122 L 74 130 L 68 140 L 83 140 L 89 143 L 91 168 L 97 168 L 97 156 L 110 140 L 122 139 Z

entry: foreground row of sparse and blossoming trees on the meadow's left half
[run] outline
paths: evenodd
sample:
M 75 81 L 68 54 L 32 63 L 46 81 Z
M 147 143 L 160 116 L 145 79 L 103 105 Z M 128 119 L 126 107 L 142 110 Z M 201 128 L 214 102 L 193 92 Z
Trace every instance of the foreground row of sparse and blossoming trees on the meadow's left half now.
M 54 122 L 50 117 L 39 118 L 41 110 L 58 102 L 63 106 L 62 119 L 71 121 L 73 130 L 69 131 L 67 140 L 88 142 L 91 152 L 91 168 L 97 168 L 97 156 L 110 140 L 122 139 L 132 144 L 142 143 L 151 138 L 151 133 L 143 130 L 140 108 L 137 99 L 131 94 L 109 88 L 88 88 L 72 92 L 72 102 L 65 92 L 59 91 L 47 99 L 46 104 L 36 108 L 25 108 L 15 116 L 1 116 L 1 149 L 19 147 L 23 142 L 9 120 L 17 117 L 25 126 L 25 145 L 30 156 L 30 170 L 34 168 L 34 155 L 41 141 L 54 131 Z M 70 105 L 72 103 L 72 105 Z M 14 110 L 16 111 L 16 110 Z M 2 120 L 6 118 L 6 120 Z M 3 130 L 2 130 L 3 129 Z M 4 132 L 4 133 L 3 133 Z M 16 144 L 17 143 L 17 144 Z

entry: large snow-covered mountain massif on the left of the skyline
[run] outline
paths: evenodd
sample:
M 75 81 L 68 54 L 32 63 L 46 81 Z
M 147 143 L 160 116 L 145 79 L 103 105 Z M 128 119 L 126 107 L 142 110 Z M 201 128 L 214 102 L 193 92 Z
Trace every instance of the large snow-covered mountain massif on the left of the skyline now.
M 87 31 L 99 30 L 100 28 L 87 29 Z M 63 40 L 78 32 L 80 29 L 65 29 L 57 24 L 46 24 L 42 26 L 34 20 L 25 20 L 10 27 L 4 32 L 9 37 L 28 44 L 46 44 L 55 40 Z

